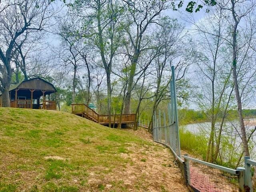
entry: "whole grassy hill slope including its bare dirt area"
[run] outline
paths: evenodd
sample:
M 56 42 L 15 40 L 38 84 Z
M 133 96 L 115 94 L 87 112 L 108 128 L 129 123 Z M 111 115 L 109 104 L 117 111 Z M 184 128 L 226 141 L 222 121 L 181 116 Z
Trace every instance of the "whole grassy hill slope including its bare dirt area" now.
M 0 192 L 168 191 L 162 178 L 186 191 L 179 174 L 166 175 L 170 167 L 179 172 L 168 150 L 133 132 L 66 112 L 0 108 Z

